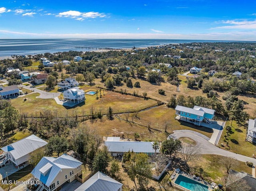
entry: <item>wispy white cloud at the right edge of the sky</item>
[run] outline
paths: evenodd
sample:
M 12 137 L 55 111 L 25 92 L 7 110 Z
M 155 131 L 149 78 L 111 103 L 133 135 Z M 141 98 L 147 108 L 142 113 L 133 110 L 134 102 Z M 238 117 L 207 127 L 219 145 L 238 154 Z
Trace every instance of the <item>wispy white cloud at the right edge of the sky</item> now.
M 227 20 L 227 21 L 219 21 L 217 24 L 228 24 L 225 26 L 218 26 L 211 29 L 242 29 L 242 30 L 251 30 L 256 29 L 256 20 L 248 21 L 248 20 Z

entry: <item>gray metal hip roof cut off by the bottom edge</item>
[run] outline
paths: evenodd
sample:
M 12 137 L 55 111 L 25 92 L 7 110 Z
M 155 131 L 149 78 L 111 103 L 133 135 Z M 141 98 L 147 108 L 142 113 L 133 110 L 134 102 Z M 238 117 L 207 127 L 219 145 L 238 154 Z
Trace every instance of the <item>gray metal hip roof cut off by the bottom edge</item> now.
M 75 191 L 118 191 L 122 183 L 98 171 Z

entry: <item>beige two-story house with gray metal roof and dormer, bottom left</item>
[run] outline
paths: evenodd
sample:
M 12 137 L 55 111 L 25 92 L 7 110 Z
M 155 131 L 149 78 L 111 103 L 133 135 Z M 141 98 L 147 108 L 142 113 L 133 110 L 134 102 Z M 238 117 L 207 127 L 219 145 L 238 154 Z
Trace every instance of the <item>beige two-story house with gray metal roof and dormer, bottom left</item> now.
M 34 181 L 39 181 L 37 191 L 60 190 L 61 186 L 75 179 L 75 175 L 82 174 L 82 162 L 74 159 L 68 154 L 58 158 L 43 157 L 32 170 Z

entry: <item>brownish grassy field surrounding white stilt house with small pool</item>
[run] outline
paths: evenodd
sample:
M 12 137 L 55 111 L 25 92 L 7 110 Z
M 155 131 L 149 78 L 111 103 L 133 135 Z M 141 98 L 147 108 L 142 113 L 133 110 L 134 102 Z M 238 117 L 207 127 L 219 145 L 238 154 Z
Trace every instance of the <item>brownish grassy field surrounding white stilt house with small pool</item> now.
M 97 90 L 92 89 L 91 87 L 83 87 L 84 91 L 89 90 Z M 120 93 L 114 93 L 111 91 L 105 91 L 105 95 L 102 93 L 102 98 L 96 100 L 96 95 L 86 95 L 85 104 L 78 104 L 75 108 L 65 108 L 62 105 L 58 105 L 54 99 L 40 99 L 36 98 L 39 96 L 38 93 L 34 93 L 31 95 L 24 96 L 22 98 L 16 98 L 11 100 L 12 105 L 20 109 L 22 112 L 27 112 L 28 114 L 39 114 L 42 110 L 51 109 L 58 110 L 59 112 L 65 112 L 76 110 L 78 115 L 82 115 L 82 111 L 85 114 L 90 113 L 90 108 L 100 109 L 102 108 L 102 113 L 106 113 L 108 107 L 112 107 L 113 112 L 126 112 L 128 110 L 141 110 L 150 106 L 154 106 L 157 104 L 155 100 L 144 100 L 143 98 L 130 96 L 130 95 L 122 95 Z M 27 98 L 24 101 L 24 98 Z M 36 107 L 35 107 L 36 106 Z M 31 108 L 34 108 L 31 110 Z

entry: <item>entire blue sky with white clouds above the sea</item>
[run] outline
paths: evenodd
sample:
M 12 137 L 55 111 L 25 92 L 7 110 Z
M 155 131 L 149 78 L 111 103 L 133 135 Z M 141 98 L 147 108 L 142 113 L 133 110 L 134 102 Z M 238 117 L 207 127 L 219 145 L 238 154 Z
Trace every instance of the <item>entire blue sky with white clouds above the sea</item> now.
M 255 0 L 0 0 L 0 39 L 256 40 Z

